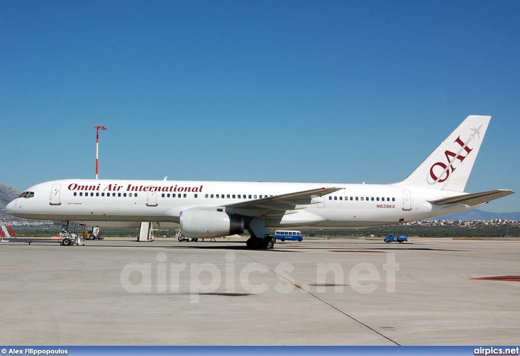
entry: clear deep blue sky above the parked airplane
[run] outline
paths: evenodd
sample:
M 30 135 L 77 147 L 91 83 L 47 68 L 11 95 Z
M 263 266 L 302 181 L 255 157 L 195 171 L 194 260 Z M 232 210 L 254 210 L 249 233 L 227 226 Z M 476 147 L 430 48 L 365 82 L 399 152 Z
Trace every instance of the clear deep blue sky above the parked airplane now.
M 2 1 L 0 183 L 392 183 L 492 115 L 466 191 L 520 192 L 520 2 Z M 520 211 L 520 193 L 486 205 Z

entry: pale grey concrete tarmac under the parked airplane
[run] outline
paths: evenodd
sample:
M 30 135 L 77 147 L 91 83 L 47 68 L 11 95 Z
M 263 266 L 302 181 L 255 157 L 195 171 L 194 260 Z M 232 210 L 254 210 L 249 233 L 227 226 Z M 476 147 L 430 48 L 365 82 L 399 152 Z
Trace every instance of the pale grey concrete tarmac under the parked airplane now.
M 520 241 L 24 240 L 0 243 L 2 345 L 519 342 Z

